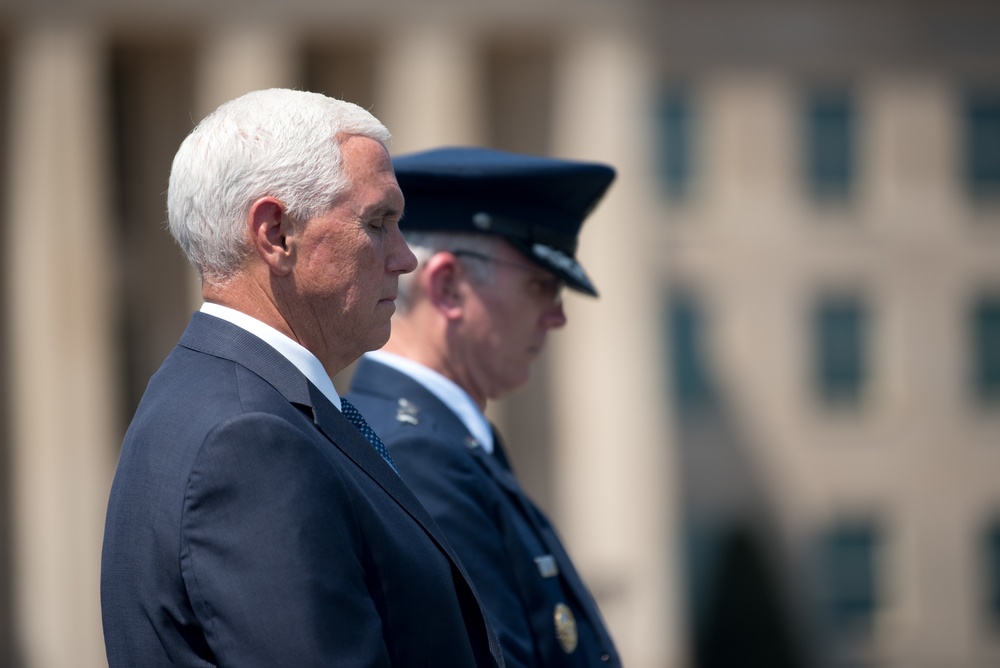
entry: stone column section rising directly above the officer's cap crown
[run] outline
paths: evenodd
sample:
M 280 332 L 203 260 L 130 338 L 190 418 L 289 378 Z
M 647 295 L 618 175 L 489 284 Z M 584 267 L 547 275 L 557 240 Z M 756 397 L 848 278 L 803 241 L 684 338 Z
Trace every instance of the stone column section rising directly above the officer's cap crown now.
M 375 115 L 393 134 L 393 154 L 484 137 L 481 58 L 466 33 L 411 26 L 387 37 L 376 66 Z

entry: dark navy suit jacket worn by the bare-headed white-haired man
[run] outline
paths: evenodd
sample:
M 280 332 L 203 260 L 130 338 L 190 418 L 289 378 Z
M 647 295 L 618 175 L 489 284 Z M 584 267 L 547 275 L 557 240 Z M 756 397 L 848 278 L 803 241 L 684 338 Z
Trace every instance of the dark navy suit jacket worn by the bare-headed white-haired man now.
M 502 665 L 447 540 L 277 351 L 196 313 L 122 447 L 111 668 Z

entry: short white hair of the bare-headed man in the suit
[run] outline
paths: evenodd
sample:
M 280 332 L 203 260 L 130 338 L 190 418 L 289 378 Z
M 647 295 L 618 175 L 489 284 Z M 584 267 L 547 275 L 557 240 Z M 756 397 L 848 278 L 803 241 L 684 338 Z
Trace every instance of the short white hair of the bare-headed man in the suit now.
M 251 252 L 250 206 L 275 197 L 292 221 L 328 211 L 350 185 L 340 141 L 383 145 L 389 131 L 361 107 L 287 89 L 247 93 L 212 112 L 174 156 L 167 190 L 170 233 L 206 282 L 224 283 Z

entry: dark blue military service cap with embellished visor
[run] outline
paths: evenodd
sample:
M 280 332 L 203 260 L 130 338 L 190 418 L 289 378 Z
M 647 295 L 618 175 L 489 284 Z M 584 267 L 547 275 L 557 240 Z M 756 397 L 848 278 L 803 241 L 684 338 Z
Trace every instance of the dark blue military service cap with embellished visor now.
M 577 237 L 615 178 L 608 165 L 449 147 L 393 158 L 406 198 L 403 232 L 503 237 L 574 290 L 597 296 Z

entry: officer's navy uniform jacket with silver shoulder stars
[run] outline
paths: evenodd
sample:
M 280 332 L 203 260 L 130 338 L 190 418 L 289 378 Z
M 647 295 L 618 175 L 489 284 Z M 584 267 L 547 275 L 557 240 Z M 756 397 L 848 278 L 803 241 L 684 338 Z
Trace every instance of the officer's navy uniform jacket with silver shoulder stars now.
M 368 358 L 358 364 L 346 396 L 386 443 L 400 476 L 465 564 L 508 666 L 621 665 L 593 597 L 549 521 L 521 489 L 499 438 L 495 453 L 487 453 L 423 385 Z M 577 623 L 578 646 L 570 653 L 557 639 L 560 603 Z

